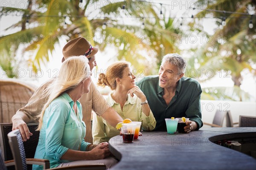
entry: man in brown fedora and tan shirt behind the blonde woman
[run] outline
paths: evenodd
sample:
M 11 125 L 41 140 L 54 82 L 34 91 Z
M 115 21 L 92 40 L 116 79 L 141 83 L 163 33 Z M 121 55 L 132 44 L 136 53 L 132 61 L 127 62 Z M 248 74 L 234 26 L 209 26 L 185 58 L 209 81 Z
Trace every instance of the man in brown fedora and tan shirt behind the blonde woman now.
M 62 58 L 62 62 L 70 56 L 84 55 L 84 57 L 89 59 L 90 70 L 92 70 L 93 67 L 96 66 L 95 54 L 97 52 L 98 48 L 90 45 L 84 37 L 78 37 L 70 40 L 64 46 L 62 50 L 64 56 Z M 28 104 L 25 107 L 20 108 L 12 117 L 12 130 L 19 129 L 24 141 L 29 139 L 29 136 L 32 135 L 32 133 L 29 132 L 29 128 L 26 123 L 38 122 L 36 116 L 41 113 L 41 109 L 47 102 L 47 98 L 44 96 L 44 89 L 51 84 L 52 81 L 53 79 L 50 79 L 41 85 L 29 99 Z M 90 92 L 84 94 L 79 101 L 83 108 L 83 121 L 86 124 L 86 136 L 84 138 L 86 142 L 93 142 L 90 125 L 92 110 L 95 111 L 98 116 L 102 116 L 102 118 L 104 118 L 113 127 L 123 120 L 121 116 L 119 116 L 119 114 L 107 104 L 106 100 L 96 89 L 93 82 L 90 84 Z

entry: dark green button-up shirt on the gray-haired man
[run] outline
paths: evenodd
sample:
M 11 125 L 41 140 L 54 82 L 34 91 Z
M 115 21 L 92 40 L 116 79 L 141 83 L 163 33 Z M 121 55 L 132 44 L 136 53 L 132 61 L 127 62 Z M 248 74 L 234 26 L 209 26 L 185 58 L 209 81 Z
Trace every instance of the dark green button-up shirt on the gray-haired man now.
M 136 84 L 145 94 L 157 121 L 154 130 L 166 130 L 165 119 L 171 117 L 189 118 L 197 123 L 197 130 L 203 126 L 200 108 L 202 89 L 197 80 L 182 77 L 169 105 L 163 99 L 163 88 L 159 86 L 158 75 L 145 77 Z

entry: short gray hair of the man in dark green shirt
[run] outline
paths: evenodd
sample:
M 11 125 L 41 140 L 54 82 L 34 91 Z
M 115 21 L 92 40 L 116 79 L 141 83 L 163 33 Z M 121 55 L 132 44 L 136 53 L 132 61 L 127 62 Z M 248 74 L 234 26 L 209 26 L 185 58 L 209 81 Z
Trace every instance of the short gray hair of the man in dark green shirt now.
M 169 62 L 172 65 L 177 66 L 178 74 L 184 73 L 186 70 L 186 60 L 177 53 L 166 54 L 163 56 L 162 63 Z

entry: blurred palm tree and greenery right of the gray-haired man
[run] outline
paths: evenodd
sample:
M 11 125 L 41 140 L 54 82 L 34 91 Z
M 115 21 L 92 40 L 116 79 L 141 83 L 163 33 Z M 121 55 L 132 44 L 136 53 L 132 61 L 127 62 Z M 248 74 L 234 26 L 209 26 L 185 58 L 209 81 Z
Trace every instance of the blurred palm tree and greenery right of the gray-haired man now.
M 231 89 L 232 95 L 230 93 L 227 95 L 225 88 L 212 88 L 211 91 L 216 93 L 210 93 L 209 88 L 206 88 L 203 99 L 250 100 L 250 95 L 241 91 L 239 87 L 242 82 L 242 71 L 247 69 L 254 77 L 256 75 L 256 2 L 253 0 L 222 0 L 221 2 L 214 1 L 215 3 L 212 4 L 212 1 L 211 3 L 208 1 L 200 0 L 201 4 L 208 4 L 208 6 L 206 10 L 199 12 L 195 17 L 200 18 L 207 15 L 216 17 L 216 24 L 219 27 L 213 35 L 210 35 L 212 40 L 209 41 L 211 43 L 205 43 L 203 47 L 194 49 L 195 55 L 189 60 L 189 69 L 200 70 L 197 72 L 198 77 L 204 77 L 204 79 L 200 79 L 201 82 L 213 78 L 207 74 L 209 70 L 214 71 L 214 74 L 221 71 L 226 72 L 223 75 L 232 77 L 235 85 Z M 207 9 L 210 10 L 207 11 Z M 211 11 L 212 9 L 223 12 Z M 225 10 L 235 13 L 226 13 Z M 251 14 L 251 16 L 244 15 L 244 13 Z M 226 24 L 223 25 L 224 21 Z M 250 21 L 253 23 L 253 28 L 248 26 Z M 190 24 L 195 26 L 195 23 Z

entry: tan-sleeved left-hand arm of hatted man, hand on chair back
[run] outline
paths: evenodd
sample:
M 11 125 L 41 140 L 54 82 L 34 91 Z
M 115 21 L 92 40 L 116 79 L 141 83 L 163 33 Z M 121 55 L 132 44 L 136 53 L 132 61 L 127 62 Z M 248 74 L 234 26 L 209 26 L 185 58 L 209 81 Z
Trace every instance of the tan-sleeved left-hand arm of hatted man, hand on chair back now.
M 12 116 L 12 130 L 19 129 L 23 141 L 29 139 L 32 133 L 29 132 L 27 123 L 38 122 L 36 116 L 41 113 L 44 107 L 46 98 L 43 97 L 44 89 L 49 85 L 49 82 L 41 85 L 29 99 L 29 102 L 23 108 L 20 108 L 14 116 Z

